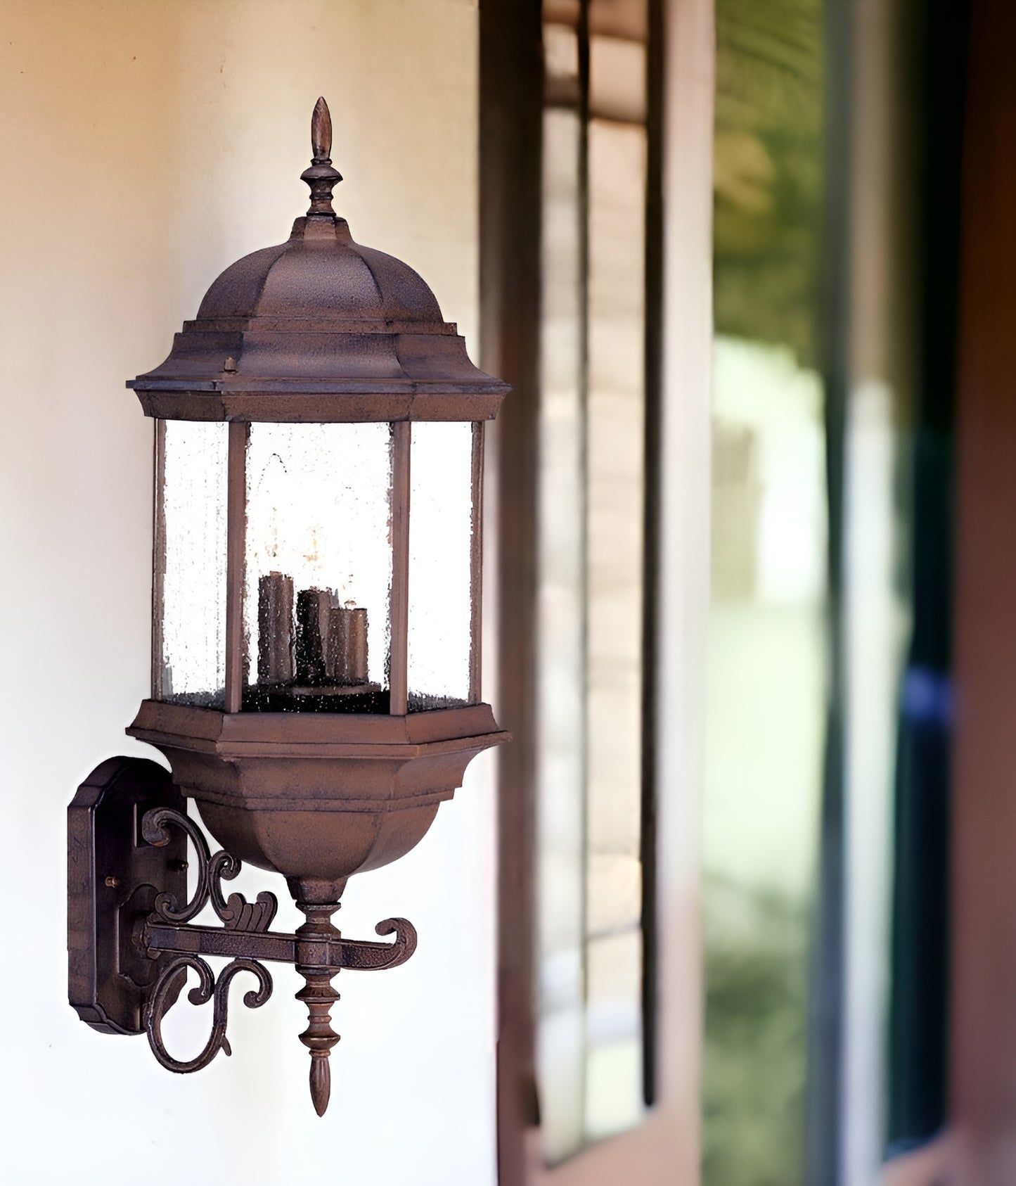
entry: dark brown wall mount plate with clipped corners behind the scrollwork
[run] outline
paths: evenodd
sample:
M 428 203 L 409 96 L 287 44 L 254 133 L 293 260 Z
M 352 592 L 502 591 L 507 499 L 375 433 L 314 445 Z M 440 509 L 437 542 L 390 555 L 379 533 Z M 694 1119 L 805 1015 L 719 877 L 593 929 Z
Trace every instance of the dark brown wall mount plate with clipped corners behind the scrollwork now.
M 134 942 L 158 893 L 187 895 L 186 835 L 174 831 L 159 847 L 141 835 L 145 812 L 160 806 L 186 810 L 168 770 L 145 758 L 110 758 L 68 808 L 68 996 L 101 1033 L 145 1032 L 148 996 L 172 959 L 149 958 Z

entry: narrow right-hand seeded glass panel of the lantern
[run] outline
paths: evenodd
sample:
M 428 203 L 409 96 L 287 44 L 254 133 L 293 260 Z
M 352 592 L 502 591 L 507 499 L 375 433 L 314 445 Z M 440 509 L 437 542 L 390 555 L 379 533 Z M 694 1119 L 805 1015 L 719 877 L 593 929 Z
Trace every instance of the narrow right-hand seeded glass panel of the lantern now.
M 409 497 L 409 710 L 469 701 L 473 426 L 414 423 Z

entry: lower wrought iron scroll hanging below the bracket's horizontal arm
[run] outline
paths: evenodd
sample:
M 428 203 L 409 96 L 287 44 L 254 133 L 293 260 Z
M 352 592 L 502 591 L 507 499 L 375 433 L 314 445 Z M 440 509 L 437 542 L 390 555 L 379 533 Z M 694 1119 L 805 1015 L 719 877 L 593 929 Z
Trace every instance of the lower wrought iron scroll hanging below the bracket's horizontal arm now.
M 179 990 L 178 977 L 185 976 L 188 968 L 193 968 L 199 981 L 187 993 L 187 1000 L 192 1005 L 212 1005 L 212 1032 L 204 1048 L 191 1059 L 173 1058 L 166 1050 L 162 1041 L 162 1018 L 166 1014 L 166 1001 L 171 993 Z M 243 1003 L 249 1009 L 260 1008 L 271 996 L 271 976 L 268 969 L 257 963 L 256 959 L 239 957 L 226 964 L 219 973 L 218 980 L 211 968 L 199 956 L 179 955 L 173 958 L 162 975 L 155 983 L 155 989 L 148 1001 L 145 1015 L 145 1029 L 148 1034 L 148 1045 L 156 1060 L 167 1071 L 175 1071 L 178 1075 L 188 1075 L 192 1071 L 200 1071 L 222 1051 L 229 1056 L 232 1053 L 229 1039 L 225 1035 L 229 1014 L 229 986 L 234 976 L 241 971 L 249 971 L 257 977 L 257 988 L 249 989 L 243 994 Z

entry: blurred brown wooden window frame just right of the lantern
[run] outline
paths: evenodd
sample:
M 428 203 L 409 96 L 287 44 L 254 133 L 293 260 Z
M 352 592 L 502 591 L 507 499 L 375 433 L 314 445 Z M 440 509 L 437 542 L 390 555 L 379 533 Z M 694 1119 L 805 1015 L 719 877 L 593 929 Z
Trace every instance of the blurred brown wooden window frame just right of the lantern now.
M 515 735 L 513 745 L 500 754 L 498 772 L 500 1186 L 571 1181 L 593 1186 L 615 1180 L 621 1166 L 633 1186 L 664 1180 L 660 1173 L 676 1182 L 697 1181 L 697 706 L 708 612 L 713 0 L 670 5 L 650 0 L 650 12 L 656 23 L 656 36 L 650 37 L 650 120 L 658 121 L 650 128 L 650 142 L 658 151 L 650 151 L 646 208 L 644 703 L 650 710 L 644 716 L 643 746 L 643 811 L 648 824 L 643 905 L 647 963 L 659 968 L 659 980 L 650 975 L 644 981 L 645 1093 L 656 1107 L 638 1128 L 547 1169 L 539 1155 L 532 999 L 542 5 L 539 0 L 480 2 L 483 364 L 513 387 L 492 429 L 487 474 L 497 652 L 512 657 L 511 663 L 497 663 L 496 703 L 501 723 Z M 671 202 L 665 205 L 669 187 Z M 665 210 L 672 222 L 665 221 Z M 684 460 L 689 464 L 682 468 Z M 664 719 L 665 742 L 657 731 L 657 720 Z M 663 795 L 657 795 L 657 786 Z M 658 850 L 667 856 L 660 867 Z M 657 936 L 666 948 L 659 959 Z

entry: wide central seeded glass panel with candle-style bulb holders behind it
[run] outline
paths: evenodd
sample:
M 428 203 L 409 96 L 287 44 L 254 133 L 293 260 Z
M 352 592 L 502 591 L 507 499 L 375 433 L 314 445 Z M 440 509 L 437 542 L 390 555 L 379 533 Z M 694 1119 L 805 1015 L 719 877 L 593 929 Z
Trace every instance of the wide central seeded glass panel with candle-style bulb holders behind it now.
M 391 427 L 250 426 L 244 709 L 388 712 Z

